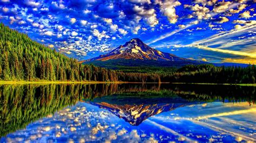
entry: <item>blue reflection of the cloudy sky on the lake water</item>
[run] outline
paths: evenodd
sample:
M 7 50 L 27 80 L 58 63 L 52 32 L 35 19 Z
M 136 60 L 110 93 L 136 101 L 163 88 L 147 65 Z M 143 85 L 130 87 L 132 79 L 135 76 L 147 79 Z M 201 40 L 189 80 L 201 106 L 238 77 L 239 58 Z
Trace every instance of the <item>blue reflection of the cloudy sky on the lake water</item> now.
M 139 116 L 134 111 L 132 115 Z M 1 142 L 239 142 L 256 141 L 256 107 L 241 103 L 181 106 L 131 125 L 110 110 L 78 102 L 39 119 Z

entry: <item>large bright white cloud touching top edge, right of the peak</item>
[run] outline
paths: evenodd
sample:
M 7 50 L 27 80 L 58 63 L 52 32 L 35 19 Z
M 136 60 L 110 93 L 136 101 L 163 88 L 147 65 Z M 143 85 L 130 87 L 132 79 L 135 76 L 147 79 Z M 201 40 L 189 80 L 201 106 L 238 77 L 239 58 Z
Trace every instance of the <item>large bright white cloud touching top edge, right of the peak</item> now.
M 160 5 L 160 11 L 168 18 L 169 22 L 175 24 L 178 20 L 178 15 L 176 15 L 176 6 L 181 5 L 179 1 L 157 1 Z

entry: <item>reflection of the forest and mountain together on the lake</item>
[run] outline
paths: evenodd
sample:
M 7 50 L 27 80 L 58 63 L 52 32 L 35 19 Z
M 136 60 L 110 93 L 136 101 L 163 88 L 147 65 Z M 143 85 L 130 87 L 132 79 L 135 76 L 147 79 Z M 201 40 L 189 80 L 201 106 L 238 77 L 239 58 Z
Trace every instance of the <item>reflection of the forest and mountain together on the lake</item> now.
M 181 106 L 223 101 L 255 102 L 255 87 L 197 84 L 18 84 L 0 85 L 1 137 L 75 105 L 111 111 L 132 125 Z

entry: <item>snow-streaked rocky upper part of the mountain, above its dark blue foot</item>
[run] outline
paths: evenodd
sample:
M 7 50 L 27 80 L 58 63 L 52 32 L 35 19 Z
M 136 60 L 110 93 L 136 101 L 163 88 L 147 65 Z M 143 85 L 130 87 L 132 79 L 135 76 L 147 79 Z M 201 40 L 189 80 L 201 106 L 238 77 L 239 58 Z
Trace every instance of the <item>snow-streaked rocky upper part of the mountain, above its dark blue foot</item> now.
M 107 61 L 117 59 L 130 60 L 156 60 L 156 61 L 185 61 L 187 59 L 179 58 L 176 55 L 160 52 L 138 38 L 127 41 L 124 45 L 113 49 L 110 53 L 99 55 L 86 61 Z

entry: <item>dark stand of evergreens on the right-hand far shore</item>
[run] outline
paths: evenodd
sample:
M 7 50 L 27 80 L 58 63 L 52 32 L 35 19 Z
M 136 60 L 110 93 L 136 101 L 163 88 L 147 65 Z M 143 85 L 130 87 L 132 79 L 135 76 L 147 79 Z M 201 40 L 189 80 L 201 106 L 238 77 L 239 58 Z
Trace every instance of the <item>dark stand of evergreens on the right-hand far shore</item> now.
M 161 75 L 163 82 L 185 83 L 255 83 L 256 67 L 215 67 L 213 65 L 187 65 L 174 73 Z

